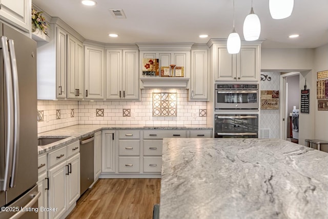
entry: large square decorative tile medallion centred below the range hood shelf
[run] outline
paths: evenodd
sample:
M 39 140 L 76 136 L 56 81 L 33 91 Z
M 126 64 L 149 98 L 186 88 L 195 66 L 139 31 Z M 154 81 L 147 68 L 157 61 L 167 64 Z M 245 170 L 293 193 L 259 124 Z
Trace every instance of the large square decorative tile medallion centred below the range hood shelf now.
M 177 93 L 153 93 L 153 116 L 176 116 Z

